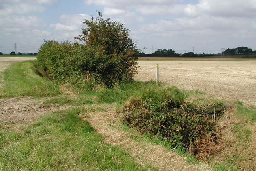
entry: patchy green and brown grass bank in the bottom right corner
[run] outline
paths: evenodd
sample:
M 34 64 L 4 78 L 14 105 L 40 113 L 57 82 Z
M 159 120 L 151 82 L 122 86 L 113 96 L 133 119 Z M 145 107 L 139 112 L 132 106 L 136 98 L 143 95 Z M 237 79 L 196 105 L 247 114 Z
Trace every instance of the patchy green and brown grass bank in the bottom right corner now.
M 215 156 L 214 168 L 220 171 L 256 170 L 256 110 L 236 106 L 222 136 L 222 151 Z

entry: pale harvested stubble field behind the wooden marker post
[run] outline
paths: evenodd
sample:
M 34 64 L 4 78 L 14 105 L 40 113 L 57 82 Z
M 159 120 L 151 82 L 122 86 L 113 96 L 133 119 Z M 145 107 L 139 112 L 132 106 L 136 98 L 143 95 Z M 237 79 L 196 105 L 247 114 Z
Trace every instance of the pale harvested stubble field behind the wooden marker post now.
M 256 105 L 256 60 L 246 61 L 138 61 L 135 80 L 156 79 L 185 90 L 200 90 L 215 98 Z

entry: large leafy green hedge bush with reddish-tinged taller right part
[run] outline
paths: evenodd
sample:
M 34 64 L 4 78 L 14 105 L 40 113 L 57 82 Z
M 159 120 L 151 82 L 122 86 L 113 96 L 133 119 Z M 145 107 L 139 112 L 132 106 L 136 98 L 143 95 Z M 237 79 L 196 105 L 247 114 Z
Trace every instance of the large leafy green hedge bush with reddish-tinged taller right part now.
M 112 87 L 137 73 L 138 50 L 122 23 L 103 19 L 101 12 L 84 20 L 87 28 L 75 37 L 84 44 L 45 40 L 38 53 L 42 74 L 58 81 L 91 77 Z M 87 78 L 88 79 L 88 78 Z

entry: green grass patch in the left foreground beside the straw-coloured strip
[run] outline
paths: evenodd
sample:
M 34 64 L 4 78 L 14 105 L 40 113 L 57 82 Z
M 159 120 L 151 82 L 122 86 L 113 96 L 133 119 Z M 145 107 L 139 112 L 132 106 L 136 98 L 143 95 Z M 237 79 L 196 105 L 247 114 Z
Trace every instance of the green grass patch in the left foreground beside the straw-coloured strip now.
M 19 130 L 0 132 L 0 170 L 148 170 L 118 146 L 105 144 L 78 117 L 83 112 L 58 111 Z

